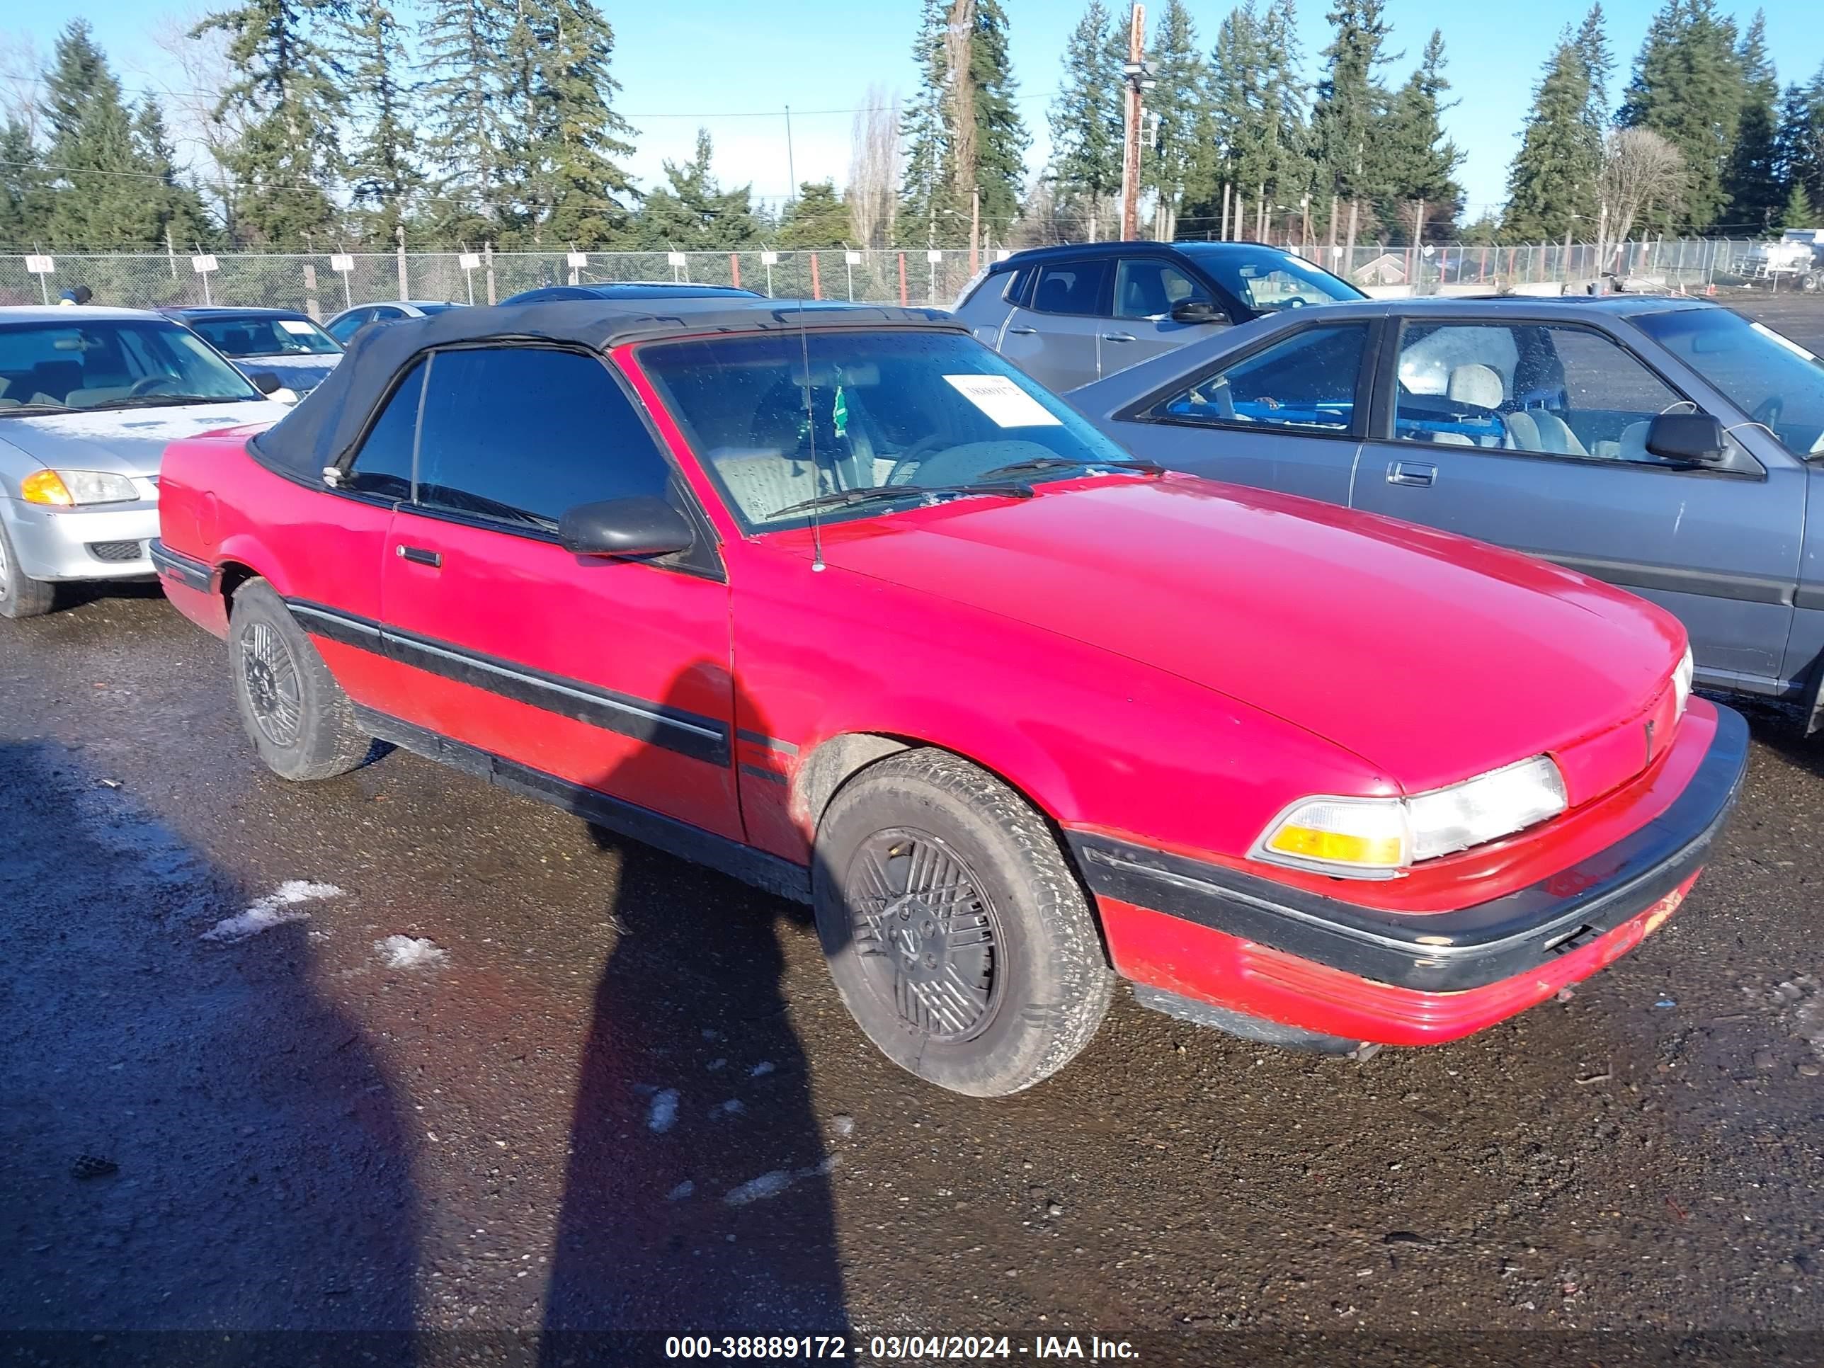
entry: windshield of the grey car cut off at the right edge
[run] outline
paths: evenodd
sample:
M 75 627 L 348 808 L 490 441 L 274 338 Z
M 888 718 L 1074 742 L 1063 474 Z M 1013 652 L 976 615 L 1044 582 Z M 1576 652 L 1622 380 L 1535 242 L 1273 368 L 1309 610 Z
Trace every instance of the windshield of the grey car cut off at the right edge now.
M 1795 456 L 1824 456 L 1824 361 L 1727 308 L 1669 308 L 1634 323 L 1720 389 Z

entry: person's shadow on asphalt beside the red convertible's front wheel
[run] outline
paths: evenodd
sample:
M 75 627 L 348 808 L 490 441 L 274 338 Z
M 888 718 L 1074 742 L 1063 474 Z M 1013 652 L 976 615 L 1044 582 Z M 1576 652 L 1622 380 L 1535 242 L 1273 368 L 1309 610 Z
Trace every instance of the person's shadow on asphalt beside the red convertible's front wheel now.
M 733 717 L 766 731 L 739 693 Z M 711 782 L 735 784 L 735 768 Z M 638 792 L 615 775 L 600 788 Z M 591 835 L 618 857 L 617 936 L 584 1042 L 542 1361 L 624 1361 L 626 1332 L 845 1333 L 834 1156 L 781 987 L 810 908 Z

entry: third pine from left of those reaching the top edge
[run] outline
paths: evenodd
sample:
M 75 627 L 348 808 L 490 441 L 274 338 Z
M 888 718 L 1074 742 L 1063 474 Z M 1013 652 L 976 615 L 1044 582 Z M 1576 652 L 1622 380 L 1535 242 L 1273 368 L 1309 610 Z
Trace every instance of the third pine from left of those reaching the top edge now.
M 502 182 L 502 53 L 511 27 L 503 0 L 436 0 L 418 33 L 423 151 L 440 171 L 432 217 L 445 243 L 498 239 L 513 213 Z

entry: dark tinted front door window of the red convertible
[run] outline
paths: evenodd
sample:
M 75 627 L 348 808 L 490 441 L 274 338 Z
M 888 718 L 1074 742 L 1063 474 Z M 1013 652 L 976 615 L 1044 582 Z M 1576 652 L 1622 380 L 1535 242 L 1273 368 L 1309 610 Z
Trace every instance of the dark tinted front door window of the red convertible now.
M 436 354 L 418 438 L 421 505 L 556 531 L 578 503 L 666 498 L 669 482 L 600 359 L 549 347 Z

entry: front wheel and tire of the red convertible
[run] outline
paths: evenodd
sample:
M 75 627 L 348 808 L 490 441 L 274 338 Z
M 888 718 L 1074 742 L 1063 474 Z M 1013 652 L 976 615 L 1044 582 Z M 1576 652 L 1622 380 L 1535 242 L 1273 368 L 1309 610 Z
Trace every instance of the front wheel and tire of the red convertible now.
M 843 1003 L 886 1058 L 969 1096 L 1069 1063 L 1114 976 L 1045 819 L 939 750 L 863 770 L 817 828 L 817 934 Z

